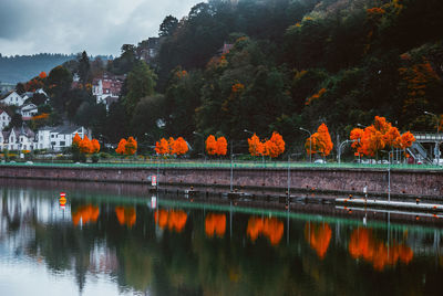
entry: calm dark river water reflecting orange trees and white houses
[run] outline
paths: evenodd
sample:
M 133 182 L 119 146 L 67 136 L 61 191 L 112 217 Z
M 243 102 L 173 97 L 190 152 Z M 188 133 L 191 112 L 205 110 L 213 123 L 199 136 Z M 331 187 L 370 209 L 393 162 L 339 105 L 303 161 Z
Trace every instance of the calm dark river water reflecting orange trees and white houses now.
M 0 295 L 442 295 L 439 216 L 141 186 L 0 190 Z

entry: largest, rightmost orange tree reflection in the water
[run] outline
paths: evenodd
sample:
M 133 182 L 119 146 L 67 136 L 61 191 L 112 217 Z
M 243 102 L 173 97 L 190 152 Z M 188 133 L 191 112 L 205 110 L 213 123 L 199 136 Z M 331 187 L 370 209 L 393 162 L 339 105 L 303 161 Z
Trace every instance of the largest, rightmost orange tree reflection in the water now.
M 411 247 L 395 242 L 387 246 L 383 242 L 375 240 L 371 230 L 363 228 L 352 232 L 349 240 L 349 254 L 353 258 L 362 257 L 372 263 L 375 271 L 383 271 L 384 266 L 394 265 L 399 260 L 409 264 L 413 257 Z

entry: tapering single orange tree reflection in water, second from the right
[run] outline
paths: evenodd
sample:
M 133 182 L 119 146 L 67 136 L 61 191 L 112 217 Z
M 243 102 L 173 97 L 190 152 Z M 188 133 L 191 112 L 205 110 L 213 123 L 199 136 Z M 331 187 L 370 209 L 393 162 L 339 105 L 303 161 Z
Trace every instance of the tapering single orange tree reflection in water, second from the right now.
M 328 223 L 306 223 L 305 239 L 316 250 L 317 255 L 322 260 L 328 251 L 332 231 Z

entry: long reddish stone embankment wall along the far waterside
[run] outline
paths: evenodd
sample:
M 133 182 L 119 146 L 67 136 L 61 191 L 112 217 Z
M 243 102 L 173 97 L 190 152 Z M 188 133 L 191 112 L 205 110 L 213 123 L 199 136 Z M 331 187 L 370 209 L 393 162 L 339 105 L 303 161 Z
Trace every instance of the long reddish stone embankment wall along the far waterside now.
M 150 183 L 156 168 L 119 167 L 37 167 L 0 166 L 0 178 L 73 180 L 95 182 Z M 233 173 L 234 189 L 239 191 L 285 192 L 288 187 L 286 169 L 243 169 Z M 229 169 L 166 168 L 159 169 L 159 184 L 195 186 L 207 188 L 230 187 Z M 388 171 L 383 169 L 292 168 L 291 190 L 362 193 L 368 187 L 371 194 L 388 193 Z M 391 170 L 391 194 L 443 198 L 443 171 Z

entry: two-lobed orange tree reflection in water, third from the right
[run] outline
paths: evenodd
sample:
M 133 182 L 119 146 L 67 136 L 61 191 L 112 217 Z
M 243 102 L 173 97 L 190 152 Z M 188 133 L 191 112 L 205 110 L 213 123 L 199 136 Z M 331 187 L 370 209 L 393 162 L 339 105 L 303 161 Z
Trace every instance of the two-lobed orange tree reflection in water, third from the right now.
M 258 218 L 251 216 L 248 220 L 248 226 L 246 233 L 253 242 L 255 242 L 258 235 L 266 236 L 271 245 L 277 245 L 284 236 L 284 222 L 276 218 Z

